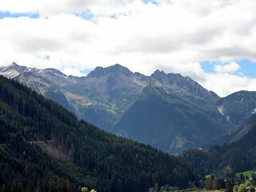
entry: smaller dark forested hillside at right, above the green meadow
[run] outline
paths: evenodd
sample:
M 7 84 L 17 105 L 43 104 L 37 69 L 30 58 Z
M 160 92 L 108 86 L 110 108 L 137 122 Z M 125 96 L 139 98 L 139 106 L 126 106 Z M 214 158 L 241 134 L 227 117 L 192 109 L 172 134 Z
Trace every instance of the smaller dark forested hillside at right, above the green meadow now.
M 224 146 L 211 146 L 209 150 L 189 150 L 179 158 L 190 162 L 195 169 L 206 174 L 232 176 L 256 167 L 256 115 L 239 128 L 241 131 L 233 142 Z

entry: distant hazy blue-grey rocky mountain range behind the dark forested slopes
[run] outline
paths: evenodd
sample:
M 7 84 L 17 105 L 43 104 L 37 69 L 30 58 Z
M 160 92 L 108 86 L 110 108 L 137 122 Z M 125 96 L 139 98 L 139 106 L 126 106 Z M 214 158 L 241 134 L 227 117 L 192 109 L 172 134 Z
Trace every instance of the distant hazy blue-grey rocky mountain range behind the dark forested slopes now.
M 74 77 L 13 63 L 0 68 L 0 74 L 103 130 L 173 154 L 210 141 L 230 141 L 226 135 L 238 133 L 256 112 L 255 92 L 220 98 L 189 77 L 160 70 L 146 76 L 116 64 Z

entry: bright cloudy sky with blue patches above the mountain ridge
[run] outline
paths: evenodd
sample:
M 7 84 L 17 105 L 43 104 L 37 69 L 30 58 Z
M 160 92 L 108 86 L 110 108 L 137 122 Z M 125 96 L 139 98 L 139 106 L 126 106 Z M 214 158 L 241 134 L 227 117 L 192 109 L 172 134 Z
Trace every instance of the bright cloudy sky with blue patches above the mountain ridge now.
M 119 63 L 256 90 L 255 0 L 0 0 L 0 66 L 86 75 Z

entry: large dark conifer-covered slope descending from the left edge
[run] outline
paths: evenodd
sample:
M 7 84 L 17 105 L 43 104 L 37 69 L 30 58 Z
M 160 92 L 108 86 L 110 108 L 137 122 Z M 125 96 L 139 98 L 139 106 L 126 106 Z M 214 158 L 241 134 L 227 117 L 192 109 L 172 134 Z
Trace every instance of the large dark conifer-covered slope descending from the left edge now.
M 146 191 L 155 183 L 185 188 L 199 179 L 178 158 L 78 121 L 62 106 L 3 77 L 0 133 L 4 191 L 78 191 L 79 186 Z

